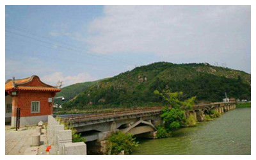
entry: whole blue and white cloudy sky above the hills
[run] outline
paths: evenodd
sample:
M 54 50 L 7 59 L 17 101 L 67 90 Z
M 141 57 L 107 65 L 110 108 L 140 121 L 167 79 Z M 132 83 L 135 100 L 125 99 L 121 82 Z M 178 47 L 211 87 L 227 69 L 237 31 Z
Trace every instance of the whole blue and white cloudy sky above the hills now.
M 157 61 L 251 72 L 250 6 L 6 6 L 5 80 L 63 86 Z

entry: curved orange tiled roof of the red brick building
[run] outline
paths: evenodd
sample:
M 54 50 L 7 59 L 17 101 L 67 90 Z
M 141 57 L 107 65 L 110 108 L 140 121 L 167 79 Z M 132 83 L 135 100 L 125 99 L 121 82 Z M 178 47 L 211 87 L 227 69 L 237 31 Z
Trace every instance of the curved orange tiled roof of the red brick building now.
M 60 88 L 56 88 L 54 86 L 50 86 L 49 84 L 45 84 L 42 81 L 40 81 L 39 77 L 39 81 L 40 83 L 42 83 L 42 86 L 28 86 L 28 85 L 24 85 L 27 84 L 31 81 L 33 81 L 34 77 L 38 77 L 38 76 L 31 76 L 31 77 L 27 77 L 24 79 L 15 79 L 14 82 L 16 84 L 16 86 L 13 86 L 12 83 L 12 79 L 8 79 L 5 83 L 5 92 L 8 92 L 10 90 L 33 90 L 33 91 L 47 91 L 47 92 L 60 92 Z

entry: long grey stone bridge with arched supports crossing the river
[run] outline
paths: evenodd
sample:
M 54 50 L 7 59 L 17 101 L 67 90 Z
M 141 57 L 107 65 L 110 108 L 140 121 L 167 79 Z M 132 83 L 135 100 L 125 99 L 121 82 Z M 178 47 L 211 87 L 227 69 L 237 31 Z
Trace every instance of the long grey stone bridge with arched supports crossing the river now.
M 205 114 L 211 109 L 224 113 L 236 108 L 235 102 L 215 102 L 211 104 L 200 104 L 187 109 L 185 116 L 193 114 L 197 121 L 204 120 Z M 77 132 L 81 132 L 86 141 L 104 141 L 111 132 L 129 132 L 134 136 L 143 138 L 154 138 L 156 126 L 161 124 L 161 107 L 130 109 L 128 111 L 116 111 L 113 113 L 102 113 L 95 115 L 79 115 L 61 118 L 66 122 L 72 122 Z

